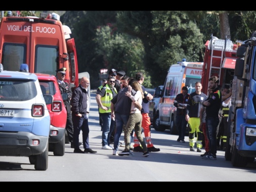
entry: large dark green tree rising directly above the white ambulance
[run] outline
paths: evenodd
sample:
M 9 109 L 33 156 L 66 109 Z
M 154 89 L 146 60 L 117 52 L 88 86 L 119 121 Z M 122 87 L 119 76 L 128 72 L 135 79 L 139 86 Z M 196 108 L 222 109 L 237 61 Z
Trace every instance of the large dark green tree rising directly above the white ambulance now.
M 123 33 L 139 37 L 145 47 L 144 67 L 153 86 L 164 83 L 172 64 L 183 58 L 199 62 L 203 35 L 196 23 L 181 11 L 124 11 L 117 14 Z

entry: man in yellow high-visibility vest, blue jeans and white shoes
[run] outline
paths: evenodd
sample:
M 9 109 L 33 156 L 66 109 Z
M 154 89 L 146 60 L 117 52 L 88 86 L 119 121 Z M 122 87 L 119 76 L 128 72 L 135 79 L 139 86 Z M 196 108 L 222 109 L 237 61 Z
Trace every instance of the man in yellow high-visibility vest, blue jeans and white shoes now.
M 111 100 L 117 94 L 117 90 L 114 87 L 115 78 L 110 76 L 108 81 L 96 94 L 96 101 L 99 106 L 100 117 L 102 118 L 102 149 L 113 150 L 110 146 L 110 135 L 114 129 L 115 121 L 111 119 Z

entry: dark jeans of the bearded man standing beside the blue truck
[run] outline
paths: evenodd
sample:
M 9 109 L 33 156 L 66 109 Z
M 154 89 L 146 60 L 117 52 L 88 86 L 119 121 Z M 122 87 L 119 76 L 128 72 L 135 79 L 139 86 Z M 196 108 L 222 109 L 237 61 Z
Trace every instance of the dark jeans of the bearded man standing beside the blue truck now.
M 219 117 L 207 117 L 205 119 L 206 122 L 206 133 L 207 133 L 207 138 L 209 140 L 209 153 L 211 153 L 212 155 L 217 154 L 217 138 L 216 138 L 216 131 L 217 131 L 217 127 L 220 123 L 220 119 Z

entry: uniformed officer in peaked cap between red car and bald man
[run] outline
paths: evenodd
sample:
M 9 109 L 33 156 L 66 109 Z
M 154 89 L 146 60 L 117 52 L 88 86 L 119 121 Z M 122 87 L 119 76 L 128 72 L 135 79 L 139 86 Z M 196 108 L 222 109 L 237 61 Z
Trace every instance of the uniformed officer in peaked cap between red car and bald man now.
M 63 93 L 63 92 L 68 93 L 68 100 L 63 101 L 64 105 L 66 107 L 66 110 L 67 110 L 66 130 L 67 130 L 67 134 L 68 134 L 68 140 L 71 143 L 71 148 L 74 148 L 74 145 L 73 145 L 73 123 L 72 123 L 71 106 L 70 106 L 72 91 L 70 89 L 69 84 L 64 81 L 65 76 L 66 76 L 66 70 L 67 69 L 65 67 L 62 67 L 61 69 L 56 70 L 56 72 L 57 72 L 56 78 L 58 80 L 60 92 L 61 93 Z M 81 145 L 81 143 L 79 143 L 79 145 Z

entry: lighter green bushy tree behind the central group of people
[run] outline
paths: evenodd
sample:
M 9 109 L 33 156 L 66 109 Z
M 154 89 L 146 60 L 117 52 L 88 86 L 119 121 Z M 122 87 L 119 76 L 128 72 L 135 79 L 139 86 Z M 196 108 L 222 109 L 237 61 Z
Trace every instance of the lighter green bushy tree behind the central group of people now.
M 107 26 L 98 27 L 96 35 L 94 40 L 98 45 L 97 53 L 103 56 L 105 68 L 124 70 L 126 75 L 130 77 L 134 77 L 136 72 L 144 71 L 143 57 L 145 51 L 139 38 L 119 33 L 111 23 Z M 148 87 L 151 86 L 150 78 L 145 79 L 145 84 Z

